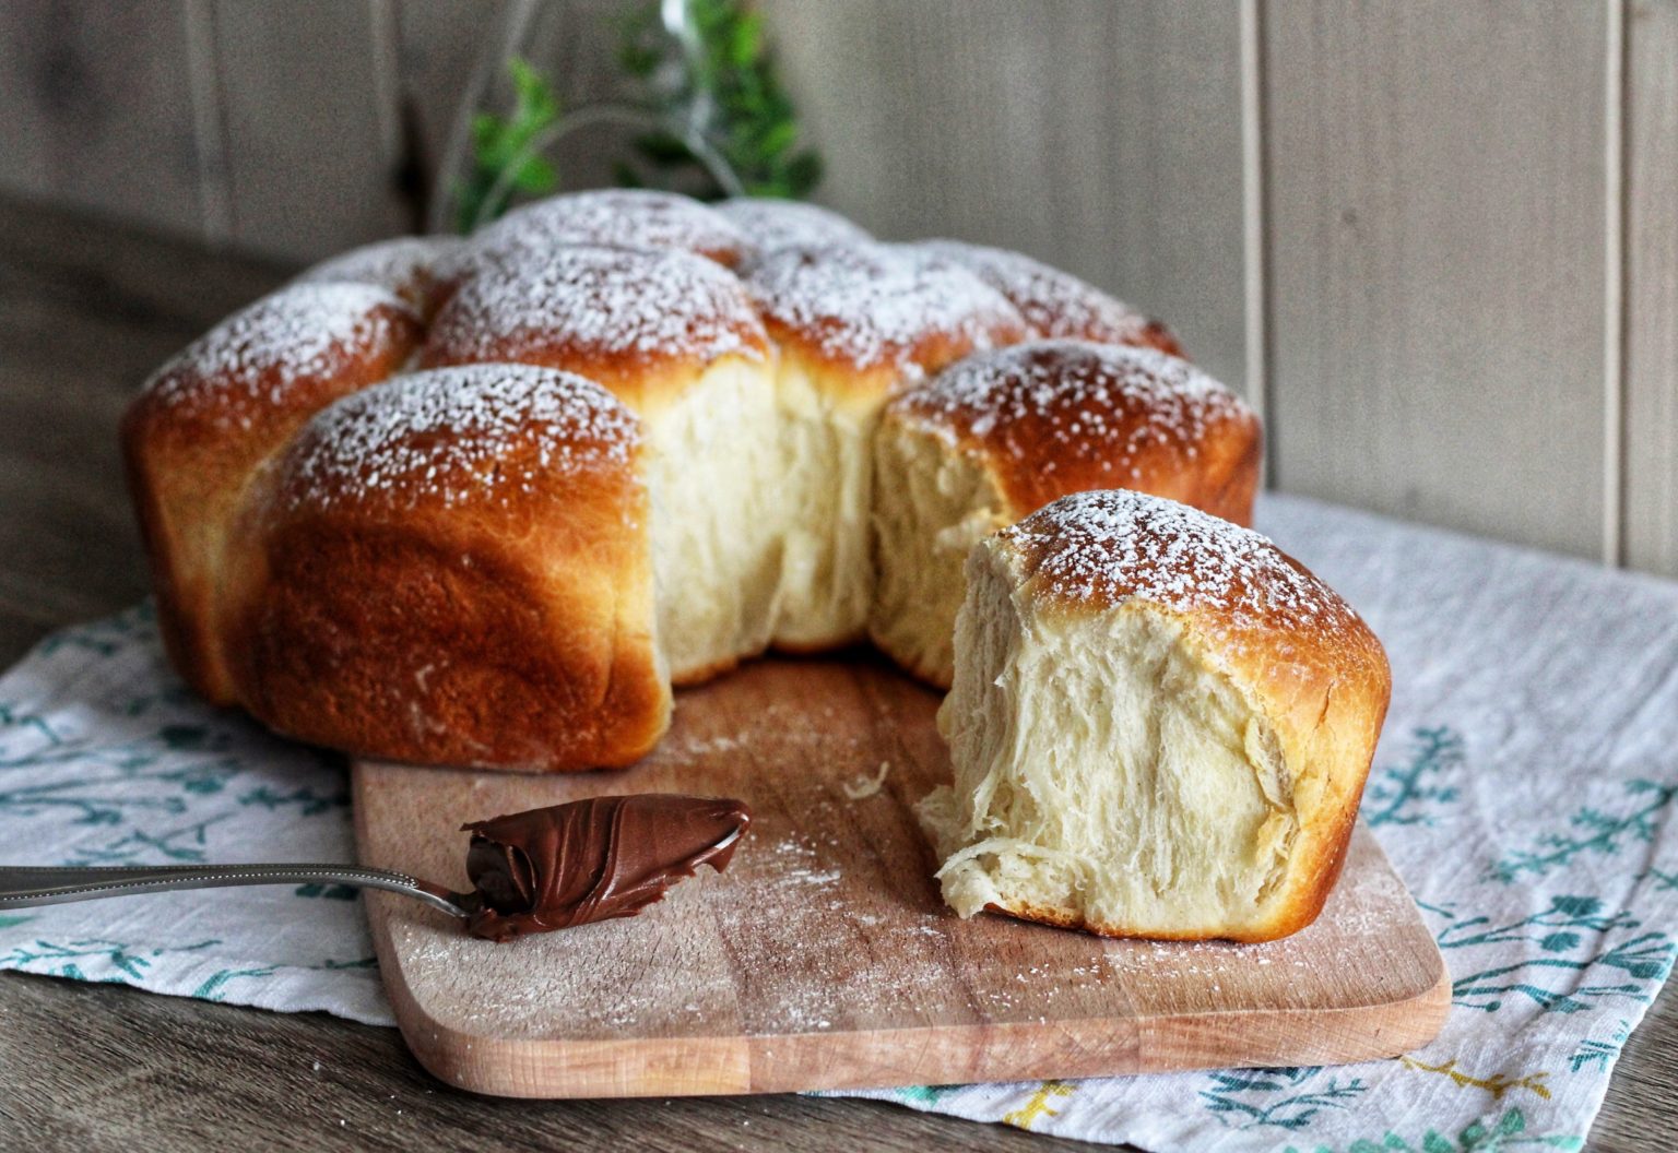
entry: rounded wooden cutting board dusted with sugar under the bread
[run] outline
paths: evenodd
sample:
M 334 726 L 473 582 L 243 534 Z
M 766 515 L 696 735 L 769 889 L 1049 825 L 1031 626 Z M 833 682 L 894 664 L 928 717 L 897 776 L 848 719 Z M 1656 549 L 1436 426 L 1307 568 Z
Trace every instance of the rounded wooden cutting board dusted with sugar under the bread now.
M 755 818 L 728 873 L 508 945 L 369 893 L 409 1047 L 465 1089 L 581 1098 L 1331 1064 L 1443 1024 L 1438 949 L 1363 826 L 1322 918 L 1269 945 L 958 920 L 911 811 L 948 778 L 936 702 L 869 659 L 767 660 L 680 694 L 624 773 L 357 764 L 361 860 L 455 888 L 466 820 L 634 791 L 738 796 Z M 878 794 L 846 791 L 881 764 Z

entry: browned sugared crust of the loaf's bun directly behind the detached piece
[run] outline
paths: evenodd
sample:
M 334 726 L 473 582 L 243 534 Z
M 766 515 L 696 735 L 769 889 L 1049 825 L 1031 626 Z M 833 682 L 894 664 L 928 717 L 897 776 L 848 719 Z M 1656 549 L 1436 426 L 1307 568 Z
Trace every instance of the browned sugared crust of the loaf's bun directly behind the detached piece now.
M 1252 523 L 1258 417 L 1153 349 L 1037 340 L 968 357 L 894 397 L 886 419 L 983 461 L 1010 520 L 1067 493 L 1129 488 Z

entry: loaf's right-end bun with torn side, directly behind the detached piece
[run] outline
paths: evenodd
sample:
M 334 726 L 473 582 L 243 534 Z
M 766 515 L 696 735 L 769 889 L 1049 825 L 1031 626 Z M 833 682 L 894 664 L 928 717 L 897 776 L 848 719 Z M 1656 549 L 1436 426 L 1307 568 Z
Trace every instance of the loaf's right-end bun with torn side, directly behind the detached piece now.
M 1260 441 L 1233 392 L 1154 349 L 1039 340 L 958 360 L 889 401 L 876 432 L 869 635 L 950 687 L 975 541 L 1057 496 L 1121 486 L 1248 525 Z

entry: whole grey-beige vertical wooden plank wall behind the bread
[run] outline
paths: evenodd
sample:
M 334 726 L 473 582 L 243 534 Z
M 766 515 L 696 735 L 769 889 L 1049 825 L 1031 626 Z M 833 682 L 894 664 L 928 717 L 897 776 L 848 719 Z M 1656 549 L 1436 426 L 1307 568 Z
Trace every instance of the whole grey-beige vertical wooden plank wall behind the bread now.
M 503 13 L 581 94 L 631 2 L 8 0 L 0 189 L 310 260 Z M 1280 488 L 1678 575 L 1678 0 L 760 2 L 822 199 L 1166 317 Z

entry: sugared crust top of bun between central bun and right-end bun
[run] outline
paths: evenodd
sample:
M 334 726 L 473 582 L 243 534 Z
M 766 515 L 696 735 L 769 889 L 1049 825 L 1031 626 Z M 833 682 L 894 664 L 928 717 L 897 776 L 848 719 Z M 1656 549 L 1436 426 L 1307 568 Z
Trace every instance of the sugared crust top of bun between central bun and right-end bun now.
M 747 288 L 782 354 L 861 404 L 1029 332 L 1002 293 L 913 245 L 785 248 L 750 271 Z

